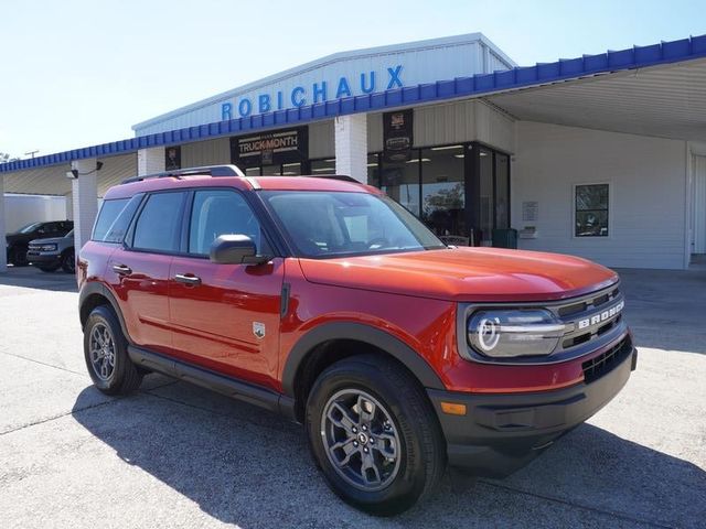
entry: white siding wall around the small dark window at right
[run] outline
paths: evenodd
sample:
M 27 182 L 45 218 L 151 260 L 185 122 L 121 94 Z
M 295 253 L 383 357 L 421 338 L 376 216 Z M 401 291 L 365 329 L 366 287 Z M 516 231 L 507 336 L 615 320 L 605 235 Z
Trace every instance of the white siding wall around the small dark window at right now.
M 686 143 L 518 121 L 512 225 L 535 225 L 520 247 L 573 253 L 609 267 L 686 267 Z M 610 183 L 610 236 L 574 238 L 574 185 Z M 538 202 L 537 222 L 522 203 Z

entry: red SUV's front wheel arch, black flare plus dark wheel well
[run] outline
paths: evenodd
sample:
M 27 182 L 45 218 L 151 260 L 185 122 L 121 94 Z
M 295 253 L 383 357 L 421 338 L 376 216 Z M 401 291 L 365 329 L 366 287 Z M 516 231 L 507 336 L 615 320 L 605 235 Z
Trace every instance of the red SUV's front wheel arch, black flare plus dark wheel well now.
M 304 334 L 290 350 L 282 370 L 282 390 L 303 417 L 309 390 L 331 364 L 361 353 L 384 354 L 406 368 L 424 388 L 445 389 L 431 366 L 410 346 L 379 328 L 353 322 L 322 324 Z

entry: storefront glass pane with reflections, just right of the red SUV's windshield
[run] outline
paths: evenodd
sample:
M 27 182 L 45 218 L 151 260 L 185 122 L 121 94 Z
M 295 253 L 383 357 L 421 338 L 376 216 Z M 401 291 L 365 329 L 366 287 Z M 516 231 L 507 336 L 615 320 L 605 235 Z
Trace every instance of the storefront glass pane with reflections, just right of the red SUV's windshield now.
M 463 145 L 421 151 L 421 219 L 438 236 L 466 236 Z

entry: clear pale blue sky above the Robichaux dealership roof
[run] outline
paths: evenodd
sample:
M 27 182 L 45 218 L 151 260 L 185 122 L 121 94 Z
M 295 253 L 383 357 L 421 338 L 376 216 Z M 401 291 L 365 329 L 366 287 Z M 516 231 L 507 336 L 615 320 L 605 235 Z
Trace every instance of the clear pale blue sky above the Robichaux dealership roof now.
M 517 64 L 706 34 L 706 0 L 4 0 L 0 152 L 51 154 L 331 53 L 481 32 Z

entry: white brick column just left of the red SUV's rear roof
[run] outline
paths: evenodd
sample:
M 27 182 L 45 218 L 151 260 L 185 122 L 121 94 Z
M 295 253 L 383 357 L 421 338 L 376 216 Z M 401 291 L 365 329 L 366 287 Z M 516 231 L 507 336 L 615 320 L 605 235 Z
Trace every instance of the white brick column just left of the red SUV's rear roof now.
M 78 170 L 78 177 L 72 181 L 74 248 L 76 249 L 76 255 L 78 255 L 86 241 L 90 239 L 93 223 L 98 214 L 96 161 L 95 158 L 90 158 L 72 163 L 72 169 Z

